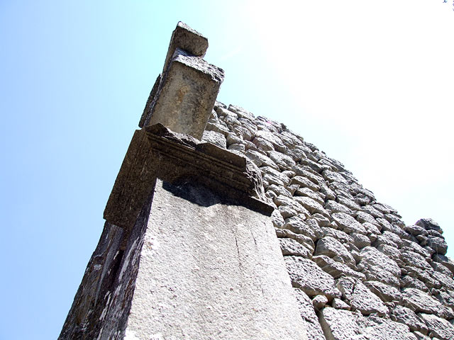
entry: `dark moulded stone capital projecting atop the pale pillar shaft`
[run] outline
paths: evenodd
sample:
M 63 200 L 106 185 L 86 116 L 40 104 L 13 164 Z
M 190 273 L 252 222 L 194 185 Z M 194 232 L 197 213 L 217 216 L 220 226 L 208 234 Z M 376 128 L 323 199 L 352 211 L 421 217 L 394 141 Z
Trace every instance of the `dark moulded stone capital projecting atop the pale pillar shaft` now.
M 248 159 L 157 124 L 135 131 L 104 218 L 131 229 L 157 178 L 169 183 L 192 181 L 210 188 L 226 202 L 265 215 L 273 211 L 267 204 L 260 171 Z

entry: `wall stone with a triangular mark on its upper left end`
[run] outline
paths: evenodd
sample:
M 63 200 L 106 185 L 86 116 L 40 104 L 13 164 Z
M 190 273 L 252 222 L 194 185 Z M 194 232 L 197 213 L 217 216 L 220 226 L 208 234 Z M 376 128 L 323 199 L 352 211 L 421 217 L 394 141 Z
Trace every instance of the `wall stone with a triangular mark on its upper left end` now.
M 388 314 L 389 310 L 380 298 L 373 294 L 360 280 L 340 278 L 336 286 L 341 290 L 343 299 L 347 300 L 350 306 L 359 310 L 362 314 Z

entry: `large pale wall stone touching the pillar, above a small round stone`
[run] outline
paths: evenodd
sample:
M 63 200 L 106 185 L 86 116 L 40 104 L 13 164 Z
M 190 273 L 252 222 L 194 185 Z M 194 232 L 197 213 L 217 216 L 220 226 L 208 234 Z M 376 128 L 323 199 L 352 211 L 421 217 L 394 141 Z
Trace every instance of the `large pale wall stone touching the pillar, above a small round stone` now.
M 322 271 L 314 262 L 297 256 L 285 256 L 284 260 L 294 287 L 300 288 L 309 296 L 321 294 L 329 300 L 341 297 L 333 277 Z

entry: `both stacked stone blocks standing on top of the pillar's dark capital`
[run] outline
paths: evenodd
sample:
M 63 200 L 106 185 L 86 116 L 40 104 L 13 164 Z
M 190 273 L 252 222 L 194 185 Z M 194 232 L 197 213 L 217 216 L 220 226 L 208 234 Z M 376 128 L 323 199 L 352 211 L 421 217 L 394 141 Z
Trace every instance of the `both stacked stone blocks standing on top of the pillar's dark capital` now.
M 201 139 L 224 77 L 222 69 L 201 59 L 207 48 L 203 35 L 178 23 L 140 128 L 161 123 L 174 132 Z

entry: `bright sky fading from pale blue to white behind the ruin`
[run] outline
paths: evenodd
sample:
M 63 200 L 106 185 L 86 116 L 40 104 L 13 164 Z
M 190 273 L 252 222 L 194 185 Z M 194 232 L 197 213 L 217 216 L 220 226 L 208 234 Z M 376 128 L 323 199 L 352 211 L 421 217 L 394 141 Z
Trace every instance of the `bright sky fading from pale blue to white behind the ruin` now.
M 220 101 L 287 124 L 454 249 L 452 4 L 226 2 L 0 0 L 1 340 L 60 333 L 180 20 L 226 71 Z

